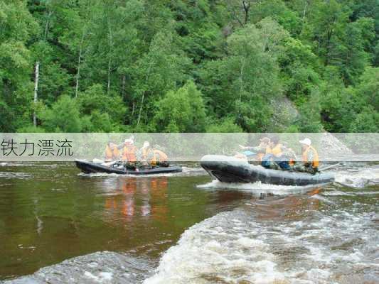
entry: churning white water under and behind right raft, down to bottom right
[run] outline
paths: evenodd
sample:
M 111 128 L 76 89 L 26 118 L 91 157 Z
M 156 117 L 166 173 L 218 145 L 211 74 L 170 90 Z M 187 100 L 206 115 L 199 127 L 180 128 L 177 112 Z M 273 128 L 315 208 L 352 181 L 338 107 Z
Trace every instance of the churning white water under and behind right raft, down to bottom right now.
M 336 170 L 324 188 L 199 185 L 279 197 L 192 226 L 144 284 L 379 283 L 378 181 L 374 165 Z

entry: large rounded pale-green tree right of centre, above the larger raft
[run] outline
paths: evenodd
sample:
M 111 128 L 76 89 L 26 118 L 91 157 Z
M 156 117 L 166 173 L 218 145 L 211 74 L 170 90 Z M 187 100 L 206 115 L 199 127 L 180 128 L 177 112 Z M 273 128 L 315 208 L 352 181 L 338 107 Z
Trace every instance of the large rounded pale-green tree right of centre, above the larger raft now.
M 229 56 L 210 62 L 201 75 L 213 111 L 221 109 L 220 116 L 235 114 L 237 123 L 247 131 L 267 130 L 272 116 L 270 103 L 282 92 L 276 58 L 287 36 L 269 18 L 230 35 Z

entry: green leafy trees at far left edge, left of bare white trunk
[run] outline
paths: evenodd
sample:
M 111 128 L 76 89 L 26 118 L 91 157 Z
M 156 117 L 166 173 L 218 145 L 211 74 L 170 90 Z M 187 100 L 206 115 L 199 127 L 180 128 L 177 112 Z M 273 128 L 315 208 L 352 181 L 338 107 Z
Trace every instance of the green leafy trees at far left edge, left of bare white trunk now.
M 28 40 L 37 22 L 21 0 L 0 1 L 0 129 L 15 131 L 31 119 L 33 72 Z

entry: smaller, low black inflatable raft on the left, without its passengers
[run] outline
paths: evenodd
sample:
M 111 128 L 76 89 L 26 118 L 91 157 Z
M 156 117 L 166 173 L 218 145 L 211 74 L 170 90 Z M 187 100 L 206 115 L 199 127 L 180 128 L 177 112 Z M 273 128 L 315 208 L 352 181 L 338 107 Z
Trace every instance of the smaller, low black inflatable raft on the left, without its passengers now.
M 124 167 L 118 168 L 102 165 L 101 163 L 91 163 L 86 160 L 75 160 L 76 166 L 83 173 L 117 173 L 119 175 L 151 175 L 158 173 L 180 173 L 181 167 L 171 165 L 169 167 L 156 167 L 151 169 L 126 170 Z

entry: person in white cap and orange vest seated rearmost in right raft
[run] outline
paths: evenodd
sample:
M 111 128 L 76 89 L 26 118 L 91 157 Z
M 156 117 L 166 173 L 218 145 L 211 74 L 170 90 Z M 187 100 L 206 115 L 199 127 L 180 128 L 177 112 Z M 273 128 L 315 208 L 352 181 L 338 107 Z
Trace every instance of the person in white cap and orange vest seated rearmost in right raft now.
M 311 146 L 311 139 L 305 138 L 299 141 L 302 148 L 302 161 L 301 165 L 294 165 L 293 170 L 303 173 L 315 174 L 319 172 L 319 153 Z

